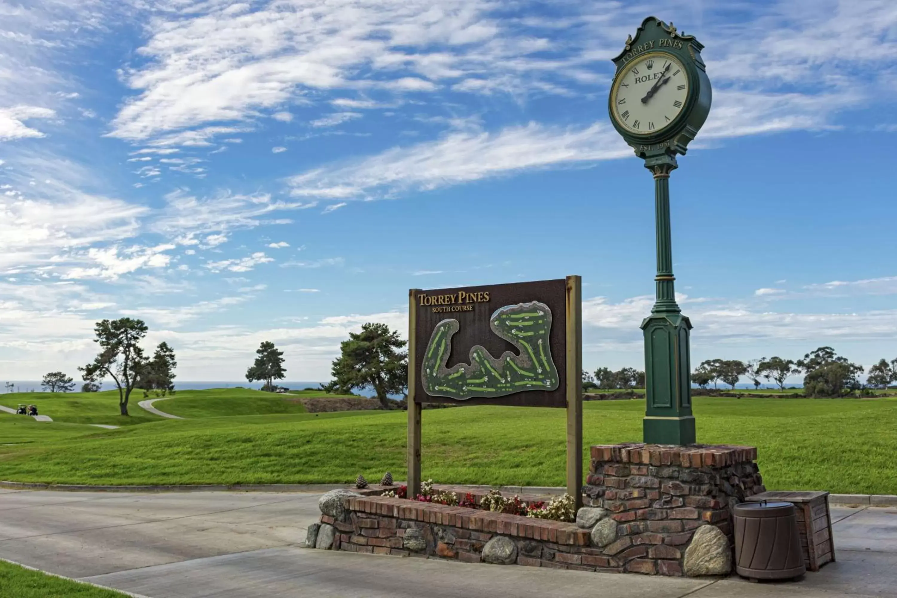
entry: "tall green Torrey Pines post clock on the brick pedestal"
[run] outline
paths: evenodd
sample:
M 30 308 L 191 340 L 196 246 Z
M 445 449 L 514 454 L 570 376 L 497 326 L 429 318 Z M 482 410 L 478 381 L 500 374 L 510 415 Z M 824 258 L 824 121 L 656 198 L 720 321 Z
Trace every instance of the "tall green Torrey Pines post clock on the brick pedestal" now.
M 641 323 L 647 394 L 643 429 L 644 441 L 651 444 L 695 442 L 689 348 L 692 323 L 675 302 L 669 178 L 678 166 L 676 154 L 686 152 L 710 112 L 703 48 L 693 36 L 676 30 L 672 22 L 667 25 L 648 17 L 614 58 L 616 74 L 608 100 L 611 122 L 654 177 L 657 300 Z

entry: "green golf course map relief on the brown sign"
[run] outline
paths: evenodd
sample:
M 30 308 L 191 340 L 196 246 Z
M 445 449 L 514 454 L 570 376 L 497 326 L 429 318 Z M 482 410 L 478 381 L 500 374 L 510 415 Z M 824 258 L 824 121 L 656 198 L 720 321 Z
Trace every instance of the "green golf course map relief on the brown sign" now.
M 433 329 L 423 356 L 422 381 L 427 394 L 465 400 L 558 387 L 560 378 L 548 343 L 552 330 L 552 310 L 548 306 L 538 301 L 505 306 L 495 310 L 489 327 L 517 347 L 519 355 L 505 351 L 495 359 L 475 345 L 469 364 L 446 368 L 451 338 L 460 325 L 455 319 L 442 320 Z

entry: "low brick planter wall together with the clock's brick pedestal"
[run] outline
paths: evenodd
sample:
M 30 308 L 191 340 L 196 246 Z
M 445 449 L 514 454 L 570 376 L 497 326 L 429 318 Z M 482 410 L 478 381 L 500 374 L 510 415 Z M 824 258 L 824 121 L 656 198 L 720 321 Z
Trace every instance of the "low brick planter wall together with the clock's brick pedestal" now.
M 727 549 L 726 538 L 713 532 L 721 542 L 718 550 L 726 556 L 733 543 L 730 507 L 765 490 L 754 463 L 757 451 L 751 446 L 592 446 L 591 456 L 584 499 L 587 505 L 606 509 L 594 524 L 595 532 L 577 524 L 482 509 L 356 495 L 342 499 L 344 516 L 321 517 L 322 525 L 335 529 L 332 545 L 326 547 L 532 567 L 704 575 L 706 571 L 690 570 L 686 558 L 690 544 L 701 543 L 692 542 L 695 530 L 701 525 L 718 528 L 728 539 Z M 466 489 L 435 490 L 458 491 L 463 498 Z M 475 492 L 476 500 L 483 494 Z M 550 497 L 520 498 L 533 502 Z M 490 541 L 493 549 L 501 545 L 504 552 L 490 550 Z M 497 560 L 495 554 L 504 557 Z M 712 573 L 727 573 L 725 567 Z

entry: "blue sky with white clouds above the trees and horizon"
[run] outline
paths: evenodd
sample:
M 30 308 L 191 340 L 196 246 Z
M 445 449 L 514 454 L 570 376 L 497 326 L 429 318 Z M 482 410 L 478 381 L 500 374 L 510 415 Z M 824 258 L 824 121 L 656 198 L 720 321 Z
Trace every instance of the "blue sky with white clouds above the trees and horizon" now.
M 713 84 L 670 182 L 692 361 L 897 357 L 893 2 L 0 0 L 0 377 L 135 316 L 184 380 L 263 340 L 327 379 L 409 288 L 572 273 L 585 365 L 641 366 L 653 185 L 606 94 L 649 14 Z

